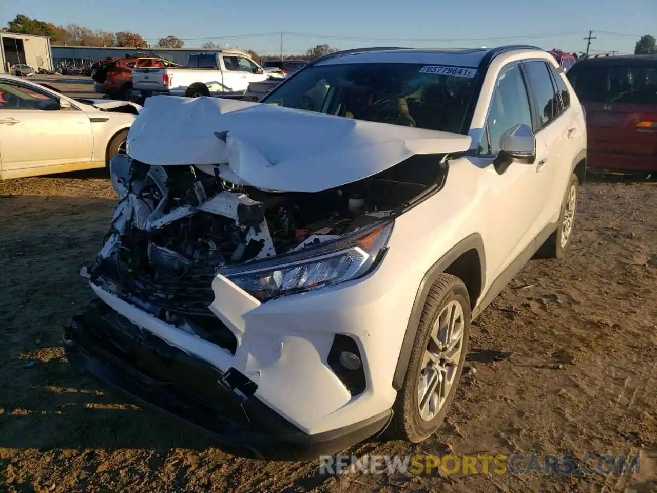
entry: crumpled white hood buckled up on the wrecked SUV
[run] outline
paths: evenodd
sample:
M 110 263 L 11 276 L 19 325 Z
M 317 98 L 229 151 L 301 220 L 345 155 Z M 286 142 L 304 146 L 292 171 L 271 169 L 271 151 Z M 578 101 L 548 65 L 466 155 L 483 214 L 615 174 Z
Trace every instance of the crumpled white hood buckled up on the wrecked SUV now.
M 151 165 L 218 165 L 223 179 L 269 191 L 317 192 L 413 154 L 466 151 L 470 137 L 212 97 L 147 99 L 128 154 Z

